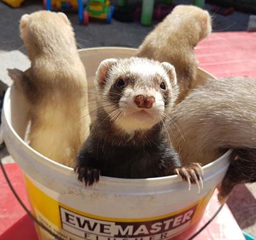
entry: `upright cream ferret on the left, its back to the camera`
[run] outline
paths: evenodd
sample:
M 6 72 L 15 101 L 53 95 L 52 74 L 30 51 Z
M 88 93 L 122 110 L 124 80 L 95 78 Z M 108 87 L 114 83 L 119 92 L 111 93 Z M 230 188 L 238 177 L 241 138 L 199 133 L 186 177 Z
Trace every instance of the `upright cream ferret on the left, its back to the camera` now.
M 31 67 L 25 73 L 9 69 L 9 76 L 31 105 L 30 146 L 73 167 L 90 124 L 73 28 L 64 13 L 37 11 L 21 16 L 20 34 Z

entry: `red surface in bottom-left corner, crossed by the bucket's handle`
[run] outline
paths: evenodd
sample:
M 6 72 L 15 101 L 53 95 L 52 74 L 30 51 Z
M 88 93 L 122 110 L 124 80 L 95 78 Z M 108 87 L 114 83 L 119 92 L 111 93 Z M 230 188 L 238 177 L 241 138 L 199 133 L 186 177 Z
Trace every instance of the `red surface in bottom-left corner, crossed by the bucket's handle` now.
M 21 200 L 30 209 L 20 168 L 5 164 L 4 169 Z M 34 223 L 21 208 L 0 170 L 0 240 L 37 240 Z

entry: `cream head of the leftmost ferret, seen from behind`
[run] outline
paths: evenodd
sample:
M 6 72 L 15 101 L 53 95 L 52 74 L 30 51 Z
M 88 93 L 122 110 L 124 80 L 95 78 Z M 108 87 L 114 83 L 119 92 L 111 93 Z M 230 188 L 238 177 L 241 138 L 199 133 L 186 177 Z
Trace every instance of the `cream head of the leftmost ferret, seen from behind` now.
M 28 56 L 44 50 L 56 52 L 61 46 L 73 49 L 75 44 L 73 28 L 64 13 L 36 11 L 20 19 L 20 36 L 28 50 Z M 57 50 L 58 49 L 58 50 Z

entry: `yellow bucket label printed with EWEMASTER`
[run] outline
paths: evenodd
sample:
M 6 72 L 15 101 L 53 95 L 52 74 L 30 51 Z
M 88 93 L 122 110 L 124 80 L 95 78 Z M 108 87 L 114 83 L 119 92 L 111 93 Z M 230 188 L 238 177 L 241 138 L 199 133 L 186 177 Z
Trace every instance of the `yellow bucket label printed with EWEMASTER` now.
M 116 219 L 91 215 L 63 205 L 43 193 L 27 176 L 25 183 L 37 219 L 63 239 L 90 240 L 158 240 L 171 239 L 198 222 L 212 196 L 204 198 L 178 212 L 143 219 Z M 51 239 L 37 229 L 40 239 Z

